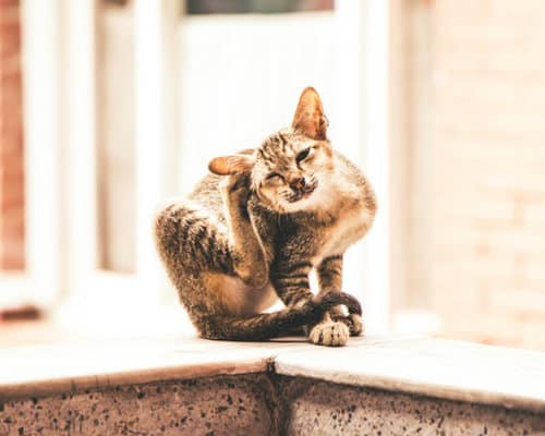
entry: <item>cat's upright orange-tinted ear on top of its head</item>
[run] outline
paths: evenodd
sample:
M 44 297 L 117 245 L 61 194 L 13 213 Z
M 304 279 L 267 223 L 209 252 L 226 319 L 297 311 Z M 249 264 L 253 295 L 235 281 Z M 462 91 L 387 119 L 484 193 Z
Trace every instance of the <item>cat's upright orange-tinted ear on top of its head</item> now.
M 327 134 L 327 118 L 324 114 L 322 100 L 316 89 L 303 89 L 291 126 L 313 140 L 325 140 Z

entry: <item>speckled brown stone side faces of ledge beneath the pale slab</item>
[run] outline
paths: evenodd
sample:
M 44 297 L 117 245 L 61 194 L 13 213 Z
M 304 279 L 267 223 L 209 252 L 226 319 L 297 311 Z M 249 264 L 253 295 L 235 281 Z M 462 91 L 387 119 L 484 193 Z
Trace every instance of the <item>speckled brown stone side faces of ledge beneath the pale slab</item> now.
M 537 435 L 545 414 L 272 373 L 86 389 L 0 405 L 0 435 Z

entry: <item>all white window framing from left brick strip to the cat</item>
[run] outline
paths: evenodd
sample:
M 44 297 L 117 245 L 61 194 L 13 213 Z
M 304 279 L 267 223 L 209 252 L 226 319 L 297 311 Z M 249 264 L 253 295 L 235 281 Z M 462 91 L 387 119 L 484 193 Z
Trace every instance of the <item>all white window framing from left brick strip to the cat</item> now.
M 73 311 L 73 316 L 81 316 L 89 305 L 100 307 L 105 301 L 111 301 L 112 292 L 119 301 L 130 300 L 136 311 L 165 300 L 166 279 L 155 253 L 152 222 L 157 204 L 174 186 L 175 105 L 169 106 L 166 98 L 172 86 L 169 77 L 175 77 L 175 71 L 167 70 L 173 62 L 174 50 L 172 47 L 169 52 L 167 43 L 169 38 L 175 40 L 174 24 L 180 14 L 172 13 L 178 4 L 174 0 L 154 3 L 134 1 L 136 80 L 157 86 L 135 89 L 136 125 L 140 124 L 136 271 L 118 274 L 98 267 L 99 4 L 94 0 L 66 4 L 22 2 L 26 269 L 0 276 L 0 304 L 31 303 L 53 313 Z M 161 98 L 154 100 L 158 90 Z M 161 110 L 155 110 L 157 107 Z

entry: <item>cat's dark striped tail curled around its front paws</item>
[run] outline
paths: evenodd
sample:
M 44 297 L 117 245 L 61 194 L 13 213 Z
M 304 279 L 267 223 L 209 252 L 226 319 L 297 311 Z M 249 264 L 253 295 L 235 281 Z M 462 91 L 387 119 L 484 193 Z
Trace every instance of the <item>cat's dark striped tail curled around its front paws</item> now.
M 318 323 L 326 311 L 339 304 L 346 305 L 351 314 L 362 314 L 360 302 L 354 296 L 344 292 L 328 292 L 278 312 L 245 318 L 208 316 L 201 319 L 199 330 L 207 339 L 252 341 L 278 338 Z

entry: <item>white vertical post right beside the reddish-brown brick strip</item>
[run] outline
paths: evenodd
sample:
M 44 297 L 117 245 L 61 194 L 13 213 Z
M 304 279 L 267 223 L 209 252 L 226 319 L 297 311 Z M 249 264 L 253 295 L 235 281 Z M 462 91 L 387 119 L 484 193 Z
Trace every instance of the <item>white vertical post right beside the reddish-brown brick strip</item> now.
M 57 0 L 21 3 L 25 138 L 25 243 L 31 301 L 60 289 L 61 35 Z

